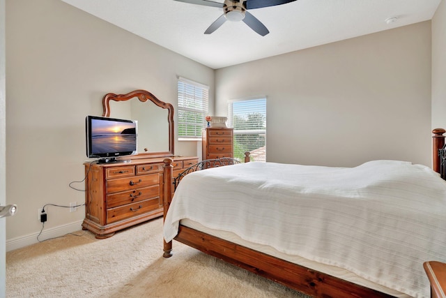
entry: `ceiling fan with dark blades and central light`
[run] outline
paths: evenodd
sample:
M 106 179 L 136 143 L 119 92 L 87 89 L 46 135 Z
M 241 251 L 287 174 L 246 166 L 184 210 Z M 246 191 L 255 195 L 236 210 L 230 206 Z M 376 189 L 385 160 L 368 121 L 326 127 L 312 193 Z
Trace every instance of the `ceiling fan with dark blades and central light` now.
M 232 22 L 245 22 L 252 30 L 259 33 L 261 36 L 266 36 L 266 34 L 270 33 L 268 29 L 265 27 L 262 22 L 260 22 L 254 15 L 249 13 L 248 9 L 254 8 L 263 8 L 269 6 L 282 5 L 285 3 L 293 2 L 296 0 L 224 0 L 224 3 L 219 3 L 210 0 L 175 0 L 179 2 L 203 5 L 203 6 L 212 6 L 223 8 L 223 15 L 221 15 L 215 22 L 210 24 L 208 29 L 204 31 L 205 34 L 213 33 L 213 31 L 217 30 L 226 22 L 226 20 Z

